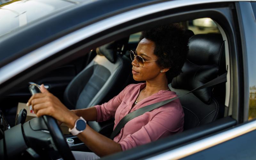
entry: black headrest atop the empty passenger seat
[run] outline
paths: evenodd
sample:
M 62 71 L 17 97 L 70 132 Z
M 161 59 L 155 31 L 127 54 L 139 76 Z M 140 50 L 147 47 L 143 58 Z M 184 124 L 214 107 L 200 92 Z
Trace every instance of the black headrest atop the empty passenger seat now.
M 127 44 L 128 40 L 129 37 L 125 37 L 123 39 L 104 44 L 96 48 L 96 53 L 98 55 L 104 55 L 110 62 L 115 63 L 117 51 L 120 50 L 123 45 Z

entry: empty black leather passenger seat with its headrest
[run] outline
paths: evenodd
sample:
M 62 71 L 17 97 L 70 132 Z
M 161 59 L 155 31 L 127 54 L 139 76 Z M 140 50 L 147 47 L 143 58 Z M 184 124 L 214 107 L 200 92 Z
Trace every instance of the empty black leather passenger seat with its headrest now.
M 128 40 L 129 37 L 96 49 L 96 57 L 68 84 L 64 92 L 64 103 L 69 109 L 102 104 L 122 91 L 130 79 L 132 68 L 131 60 L 122 55 L 122 48 Z M 106 123 L 88 124 L 100 132 Z

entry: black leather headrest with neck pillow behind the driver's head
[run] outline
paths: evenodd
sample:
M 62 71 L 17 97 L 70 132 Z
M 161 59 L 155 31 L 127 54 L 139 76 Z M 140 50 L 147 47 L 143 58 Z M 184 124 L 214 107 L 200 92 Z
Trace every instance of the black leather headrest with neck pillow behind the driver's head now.
M 193 90 L 225 71 L 224 41 L 219 34 L 195 35 L 189 39 L 189 52 L 182 73 L 172 79 L 172 87 Z M 212 87 L 193 92 L 208 104 Z

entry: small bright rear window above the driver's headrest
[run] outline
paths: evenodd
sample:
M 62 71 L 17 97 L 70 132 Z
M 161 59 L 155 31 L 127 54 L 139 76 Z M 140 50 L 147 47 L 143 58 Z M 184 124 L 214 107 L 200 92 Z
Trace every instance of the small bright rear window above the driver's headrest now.
M 217 25 L 210 18 L 199 18 L 188 21 L 188 29 L 192 30 L 195 35 L 208 34 L 208 33 L 220 33 Z

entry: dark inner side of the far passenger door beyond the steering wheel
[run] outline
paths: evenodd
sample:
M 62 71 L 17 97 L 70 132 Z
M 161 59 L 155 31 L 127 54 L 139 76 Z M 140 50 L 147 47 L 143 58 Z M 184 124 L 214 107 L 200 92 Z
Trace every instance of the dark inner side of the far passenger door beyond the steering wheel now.
M 30 81 L 36 84 L 44 84 L 44 86 L 58 97 L 63 102 L 63 93 L 69 82 L 95 57 L 95 51 L 85 52 L 84 56 L 69 62 L 60 67 L 52 69 L 40 78 L 31 79 Z M 2 97 L 0 103 L 1 110 L 6 115 L 10 126 L 14 126 L 18 103 L 27 103 L 31 97 L 28 90 L 29 82 L 19 86 L 17 90 L 11 91 L 6 96 Z

